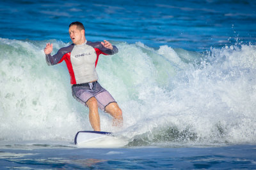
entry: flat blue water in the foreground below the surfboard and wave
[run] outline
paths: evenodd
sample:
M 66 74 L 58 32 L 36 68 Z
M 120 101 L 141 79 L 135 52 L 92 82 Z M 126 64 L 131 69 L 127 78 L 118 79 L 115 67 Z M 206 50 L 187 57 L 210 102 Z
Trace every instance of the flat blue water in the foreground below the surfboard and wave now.
M 38 146 L 37 146 L 38 147 Z M 58 148 L 3 150 L 6 169 L 255 169 L 255 148 Z M 18 153 L 17 153 L 18 152 Z

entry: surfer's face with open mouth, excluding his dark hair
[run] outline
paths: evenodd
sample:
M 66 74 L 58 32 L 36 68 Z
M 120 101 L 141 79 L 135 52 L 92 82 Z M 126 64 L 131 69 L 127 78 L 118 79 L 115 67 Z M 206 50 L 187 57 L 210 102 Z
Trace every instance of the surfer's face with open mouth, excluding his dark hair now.
M 68 29 L 70 39 L 75 45 L 83 44 L 83 36 L 84 36 L 84 30 L 77 29 L 77 25 L 72 25 Z

